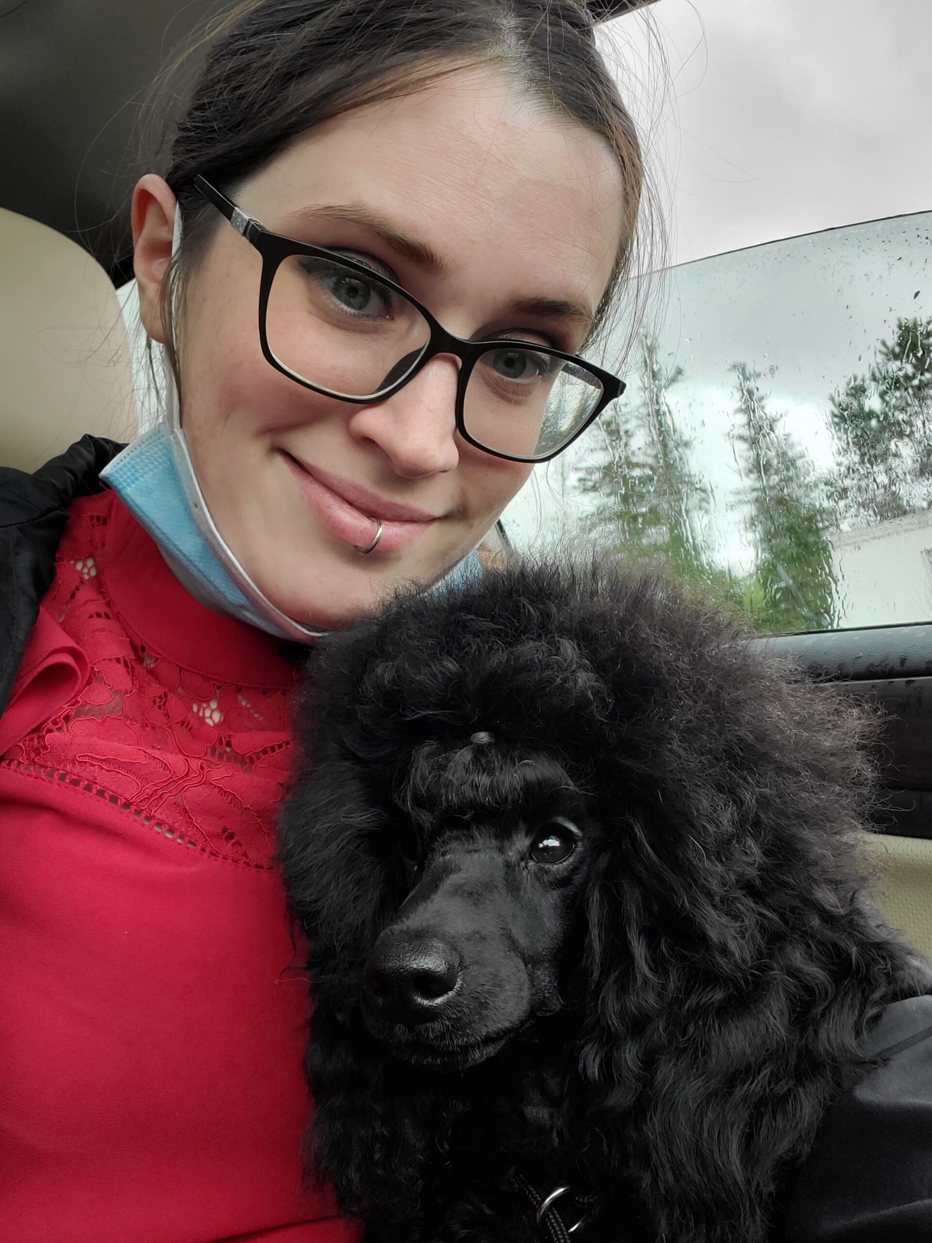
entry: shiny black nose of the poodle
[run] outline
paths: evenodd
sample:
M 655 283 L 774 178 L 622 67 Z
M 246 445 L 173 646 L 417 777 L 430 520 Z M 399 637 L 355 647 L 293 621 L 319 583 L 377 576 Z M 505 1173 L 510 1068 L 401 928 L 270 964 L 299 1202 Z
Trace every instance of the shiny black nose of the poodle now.
M 408 1025 L 436 1018 L 459 982 L 459 953 L 434 940 L 379 937 L 363 972 L 363 983 L 379 1014 Z

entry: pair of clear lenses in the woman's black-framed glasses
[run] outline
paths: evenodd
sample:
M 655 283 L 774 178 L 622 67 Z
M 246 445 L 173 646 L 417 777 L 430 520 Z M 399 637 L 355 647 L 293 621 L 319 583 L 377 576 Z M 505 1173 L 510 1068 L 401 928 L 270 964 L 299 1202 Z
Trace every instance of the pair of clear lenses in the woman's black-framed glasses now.
M 337 260 L 290 255 L 276 268 L 266 338 L 293 375 L 334 397 L 378 398 L 416 367 L 430 326 L 378 276 Z M 516 457 L 555 452 L 601 397 L 596 375 L 533 347 L 490 348 L 464 398 L 464 424 L 486 449 Z

